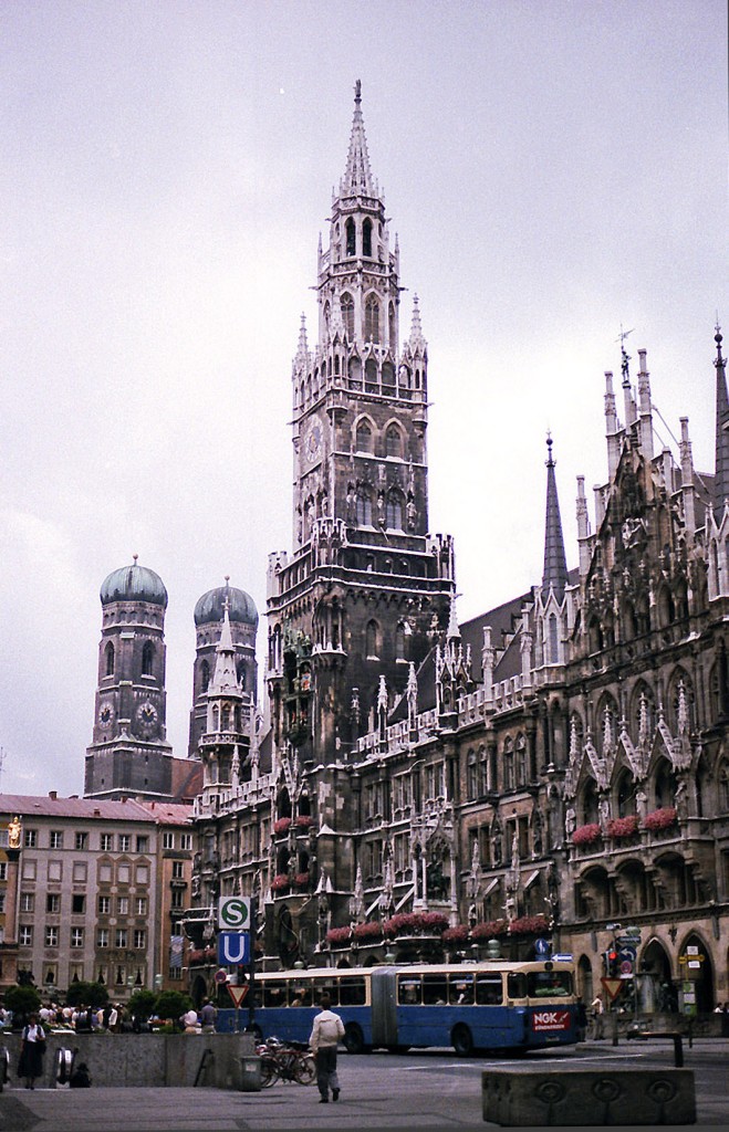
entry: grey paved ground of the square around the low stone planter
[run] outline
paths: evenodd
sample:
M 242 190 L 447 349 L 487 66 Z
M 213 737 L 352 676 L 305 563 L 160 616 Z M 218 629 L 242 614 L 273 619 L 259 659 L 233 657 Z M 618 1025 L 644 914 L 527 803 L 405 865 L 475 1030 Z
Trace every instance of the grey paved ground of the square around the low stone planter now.
M 696 1081 L 697 1124 L 729 1126 L 729 1039 L 685 1043 L 685 1067 Z M 574 1050 L 539 1055 L 560 1066 L 672 1065 L 670 1043 L 585 1043 Z M 260 1092 L 216 1089 L 88 1090 L 18 1087 L 11 1078 L 0 1095 L 0 1132 L 276 1132 L 316 1129 L 483 1129 L 481 1073 L 506 1058 L 462 1060 L 445 1050 L 395 1056 L 340 1057 L 342 1097 L 320 1105 L 316 1087 L 277 1083 Z M 520 1064 L 524 1064 L 521 1062 Z

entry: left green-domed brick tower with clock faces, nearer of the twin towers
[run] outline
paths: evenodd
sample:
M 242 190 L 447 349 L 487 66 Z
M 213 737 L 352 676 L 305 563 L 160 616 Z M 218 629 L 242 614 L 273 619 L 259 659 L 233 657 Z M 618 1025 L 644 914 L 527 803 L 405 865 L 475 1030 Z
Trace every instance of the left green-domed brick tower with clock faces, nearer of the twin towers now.
M 164 798 L 172 788 L 166 741 L 164 611 L 168 592 L 137 564 L 113 571 L 101 588 L 102 636 L 92 745 L 84 795 Z

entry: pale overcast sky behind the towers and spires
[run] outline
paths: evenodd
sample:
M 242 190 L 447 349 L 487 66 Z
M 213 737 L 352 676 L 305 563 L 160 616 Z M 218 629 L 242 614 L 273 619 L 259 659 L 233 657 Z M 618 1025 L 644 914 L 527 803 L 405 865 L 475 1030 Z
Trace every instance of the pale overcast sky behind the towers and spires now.
M 265 609 L 358 78 L 461 620 L 541 580 L 548 429 L 576 565 L 621 326 L 659 443 L 688 415 L 713 471 L 724 0 L 6 0 L 0 40 L 3 792 L 83 792 L 98 589 L 134 554 L 170 595 L 178 755 L 197 598 L 229 574 Z

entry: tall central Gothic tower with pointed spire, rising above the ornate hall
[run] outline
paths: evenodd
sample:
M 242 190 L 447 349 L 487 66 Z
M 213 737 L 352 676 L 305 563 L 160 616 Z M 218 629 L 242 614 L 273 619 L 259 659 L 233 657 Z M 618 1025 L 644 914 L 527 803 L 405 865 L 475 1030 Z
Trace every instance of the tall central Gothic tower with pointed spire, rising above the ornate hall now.
M 400 251 L 369 163 L 355 86 L 318 343 L 302 320 L 292 369 L 293 556 L 269 559 L 268 686 L 278 745 L 345 753 L 404 693 L 448 623 L 453 544 L 428 534 L 428 348 L 414 300 L 400 343 Z

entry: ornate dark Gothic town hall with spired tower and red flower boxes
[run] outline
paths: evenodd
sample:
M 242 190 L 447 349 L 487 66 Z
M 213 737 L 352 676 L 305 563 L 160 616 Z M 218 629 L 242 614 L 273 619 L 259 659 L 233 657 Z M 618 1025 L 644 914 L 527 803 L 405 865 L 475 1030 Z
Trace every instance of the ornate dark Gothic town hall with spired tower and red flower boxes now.
M 729 998 L 721 335 L 715 474 L 694 469 L 686 419 L 677 458 L 654 447 L 646 353 L 632 375 L 623 338 L 592 522 L 577 481 L 578 565 L 549 438 L 541 582 L 458 625 L 452 542 L 428 534 L 427 344 L 417 302 L 398 344 L 400 255 L 359 85 L 329 225 L 319 342 L 302 326 L 293 362 L 294 549 L 269 556 L 267 722 L 251 714 L 245 763 L 196 803 L 199 953 L 217 895 L 242 893 L 271 966 L 455 957 L 489 937 L 524 957 L 546 936 L 590 1001 L 617 941 L 636 1013 L 692 995 L 709 1011 Z

